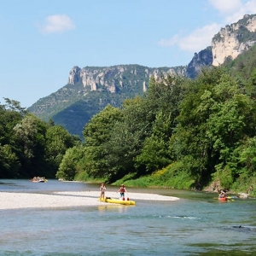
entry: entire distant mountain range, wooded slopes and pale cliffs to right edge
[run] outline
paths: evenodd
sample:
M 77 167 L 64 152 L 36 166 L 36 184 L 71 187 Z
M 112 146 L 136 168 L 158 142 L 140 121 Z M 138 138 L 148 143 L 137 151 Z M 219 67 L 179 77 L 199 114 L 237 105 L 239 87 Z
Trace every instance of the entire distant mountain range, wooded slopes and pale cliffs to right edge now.
M 44 120 L 53 119 L 72 134 L 82 137 L 90 117 L 108 104 L 119 107 L 127 98 L 142 96 L 151 76 L 176 74 L 195 79 L 202 67 L 222 65 L 256 44 L 256 15 L 245 15 L 238 22 L 225 26 L 212 38 L 212 45 L 195 53 L 188 66 L 143 67 L 73 67 L 67 84 L 60 90 L 39 99 L 28 110 Z

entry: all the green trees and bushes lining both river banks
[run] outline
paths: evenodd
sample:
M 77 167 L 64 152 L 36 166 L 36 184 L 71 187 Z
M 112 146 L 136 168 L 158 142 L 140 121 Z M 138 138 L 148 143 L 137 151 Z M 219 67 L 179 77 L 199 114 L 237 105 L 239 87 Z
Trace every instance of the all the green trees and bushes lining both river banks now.
M 5 98 L 0 177 L 256 195 L 255 60 L 252 47 L 195 79 L 152 78 L 145 95 L 96 113 L 84 126 L 84 142 Z

